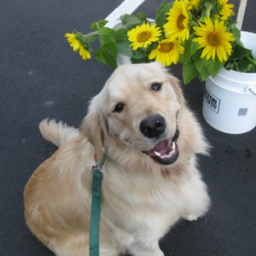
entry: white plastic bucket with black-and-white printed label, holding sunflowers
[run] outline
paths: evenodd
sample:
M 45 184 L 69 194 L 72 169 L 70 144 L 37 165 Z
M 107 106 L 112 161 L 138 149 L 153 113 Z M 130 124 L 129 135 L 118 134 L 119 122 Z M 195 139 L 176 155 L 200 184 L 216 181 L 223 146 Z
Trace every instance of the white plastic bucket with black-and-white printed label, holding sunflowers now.
M 256 56 L 256 34 L 241 32 L 241 42 Z M 241 134 L 256 126 L 256 73 L 224 68 L 206 80 L 203 116 L 218 131 Z

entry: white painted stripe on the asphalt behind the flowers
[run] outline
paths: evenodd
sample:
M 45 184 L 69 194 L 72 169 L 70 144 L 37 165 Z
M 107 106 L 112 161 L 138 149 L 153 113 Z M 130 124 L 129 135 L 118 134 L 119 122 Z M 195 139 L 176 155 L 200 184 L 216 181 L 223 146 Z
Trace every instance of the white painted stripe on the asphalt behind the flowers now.
M 119 17 L 121 15 L 131 15 L 145 0 L 125 0 L 119 5 L 113 12 L 108 15 L 105 20 L 108 20 L 106 26 L 113 28 L 117 23 L 119 23 Z

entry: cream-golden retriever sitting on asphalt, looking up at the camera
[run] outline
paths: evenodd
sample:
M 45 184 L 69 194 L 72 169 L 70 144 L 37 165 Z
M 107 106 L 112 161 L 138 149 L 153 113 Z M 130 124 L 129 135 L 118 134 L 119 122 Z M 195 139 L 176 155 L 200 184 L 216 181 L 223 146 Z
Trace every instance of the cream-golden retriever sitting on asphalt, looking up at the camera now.
M 80 129 L 44 120 L 59 149 L 25 189 L 26 224 L 59 256 L 89 255 L 92 167 L 102 166 L 100 255 L 163 256 L 159 240 L 210 204 L 196 154 L 201 127 L 177 79 L 159 63 L 118 67 L 90 102 Z

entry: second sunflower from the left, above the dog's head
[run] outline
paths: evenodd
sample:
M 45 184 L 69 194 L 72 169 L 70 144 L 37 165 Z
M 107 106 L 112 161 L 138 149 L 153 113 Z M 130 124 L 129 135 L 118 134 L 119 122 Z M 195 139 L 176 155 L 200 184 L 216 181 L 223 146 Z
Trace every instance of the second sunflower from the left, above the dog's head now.
M 141 26 L 136 26 L 127 32 L 128 39 L 131 44 L 131 48 L 136 50 L 138 48 L 147 48 L 148 45 L 159 40 L 161 31 L 156 24 L 150 26 L 148 23 L 144 23 Z

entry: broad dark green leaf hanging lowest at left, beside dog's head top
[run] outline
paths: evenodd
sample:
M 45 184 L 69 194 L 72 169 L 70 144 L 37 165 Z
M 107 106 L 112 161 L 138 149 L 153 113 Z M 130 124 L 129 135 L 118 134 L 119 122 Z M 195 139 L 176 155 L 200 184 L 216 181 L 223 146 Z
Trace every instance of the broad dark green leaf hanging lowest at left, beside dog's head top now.
M 101 48 L 95 53 L 96 61 L 100 61 L 108 67 L 116 68 L 117 48 L 114 43 L 102 44 Z

